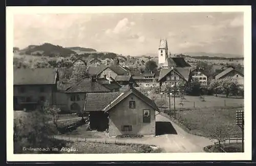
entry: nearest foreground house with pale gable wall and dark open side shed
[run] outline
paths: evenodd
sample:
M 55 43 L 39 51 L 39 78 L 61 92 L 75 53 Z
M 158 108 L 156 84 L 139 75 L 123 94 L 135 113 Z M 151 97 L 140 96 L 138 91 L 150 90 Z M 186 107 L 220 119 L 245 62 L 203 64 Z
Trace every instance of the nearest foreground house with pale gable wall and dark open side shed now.
M 88 93 L 83 110 L 90 114 L 92 129 L 108 129 L 110 136 L 156 135 L 158 108 L 132 85 L 123 93 Z

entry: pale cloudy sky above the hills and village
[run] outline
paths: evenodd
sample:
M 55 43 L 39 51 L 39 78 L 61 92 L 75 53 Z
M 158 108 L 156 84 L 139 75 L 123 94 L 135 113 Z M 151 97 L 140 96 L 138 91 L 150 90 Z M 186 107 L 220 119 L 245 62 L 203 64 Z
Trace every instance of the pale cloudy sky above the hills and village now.
M 242 12 L 16 14 L 14 46 L 51 43 L 125 56 L 168 51 L 243 55 Z

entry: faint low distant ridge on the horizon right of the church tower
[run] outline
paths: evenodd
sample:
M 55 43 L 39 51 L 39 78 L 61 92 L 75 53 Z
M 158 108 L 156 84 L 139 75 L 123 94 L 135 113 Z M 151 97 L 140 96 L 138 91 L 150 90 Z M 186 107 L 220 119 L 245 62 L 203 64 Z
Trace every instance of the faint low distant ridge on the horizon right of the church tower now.
M 208 53 L 208 52 L 184 52 L 182 53 L 186 56 L 191 57 L 200 57 L 200 56 L 207 56 L 207 57 L 220 57 L 220 58 L 243 58 L 243 55 L 240 54 L 230 54 L 230 53 Z

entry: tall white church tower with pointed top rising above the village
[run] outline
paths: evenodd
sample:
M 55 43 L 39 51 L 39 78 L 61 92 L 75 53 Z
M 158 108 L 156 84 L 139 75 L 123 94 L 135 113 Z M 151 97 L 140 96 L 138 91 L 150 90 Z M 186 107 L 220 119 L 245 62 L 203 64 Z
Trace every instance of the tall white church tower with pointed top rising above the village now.
M 158 67 L 165 64 L 167 58 L 168 58 L 167 40 L 160 39 L 160 44 L 158 47 Z

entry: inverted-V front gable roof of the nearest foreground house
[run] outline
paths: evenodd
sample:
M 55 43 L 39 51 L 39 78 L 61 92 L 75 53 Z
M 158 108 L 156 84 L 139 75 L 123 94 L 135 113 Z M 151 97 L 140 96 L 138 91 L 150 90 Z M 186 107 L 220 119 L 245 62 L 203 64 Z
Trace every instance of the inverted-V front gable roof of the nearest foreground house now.
M 121 102 L 123 99 L 128 97 L 129 95 L 134 94 L 139 99 L 144 101 L 147 105 L 150 105 L 153 109 L 158 110 L 158 107 L 154 101 L 152 101 L 150 98 L 143 95 L 141 92 L 136 90 L 135 88 L 131 88 L 125 92 L 123 92 L 120 96 L 118 96 L 115 100 L 113 100 L 108 106 L 106 106 L 103 110 L 104 112 L 108 112 L 113 108 L 115 105 L 117 105 L 119 102 Z

